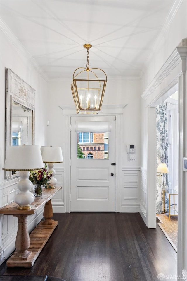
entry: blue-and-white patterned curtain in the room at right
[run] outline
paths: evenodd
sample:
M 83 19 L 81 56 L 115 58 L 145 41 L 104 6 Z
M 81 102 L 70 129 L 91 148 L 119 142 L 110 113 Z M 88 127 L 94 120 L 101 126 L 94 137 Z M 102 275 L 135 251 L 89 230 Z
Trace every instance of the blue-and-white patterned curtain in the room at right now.
M 157 167 L 160 163 L 168 166 L 168 132 L 167 132 L 167 103 L 162 102 L 156 108 L 157 114 Z M 163 189 L 168 189 L 168 175 L 157 176 L 157 214 L 164 213 Z M 168 200 L 165 193 L 165 208 L 168 208 Z

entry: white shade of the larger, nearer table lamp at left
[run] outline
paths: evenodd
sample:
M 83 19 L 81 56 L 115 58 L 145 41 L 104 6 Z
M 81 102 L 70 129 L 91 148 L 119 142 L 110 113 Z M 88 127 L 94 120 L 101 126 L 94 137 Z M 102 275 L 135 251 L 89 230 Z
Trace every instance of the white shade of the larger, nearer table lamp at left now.
M 44 168 L 40 146 L 18 145 L 8 146 L 3 170 L 32 171 Z

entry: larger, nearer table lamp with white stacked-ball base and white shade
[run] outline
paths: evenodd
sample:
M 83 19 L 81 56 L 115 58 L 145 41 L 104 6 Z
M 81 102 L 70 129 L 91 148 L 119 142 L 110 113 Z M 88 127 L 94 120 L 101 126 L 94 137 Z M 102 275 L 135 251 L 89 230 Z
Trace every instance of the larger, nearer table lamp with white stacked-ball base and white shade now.
M 20 180 L 18 189 L 20 192 L 15 195 L 15 202 L 18 204 L 17 209 L 27 210 L 32 206 L 34 194 L 29 190 L 32 183 L 29 180 L 30 171 L 41 170 L 44 163 L 41 157 L 40 146 L 21 145 L 9 146 L 6 152 L 6 159 L 3 170 L 19 171 Z

